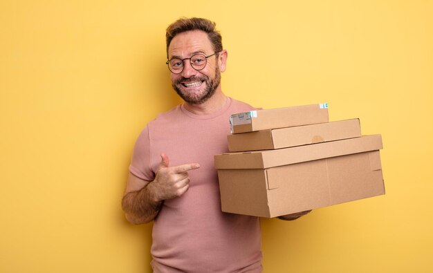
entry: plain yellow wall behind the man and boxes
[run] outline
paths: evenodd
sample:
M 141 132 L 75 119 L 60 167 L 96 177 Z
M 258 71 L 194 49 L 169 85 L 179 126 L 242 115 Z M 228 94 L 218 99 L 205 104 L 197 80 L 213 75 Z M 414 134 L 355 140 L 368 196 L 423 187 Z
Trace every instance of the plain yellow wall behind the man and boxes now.
M 150 272 L 120 199 L 138 133 L 180 102 L 165 28 L 216 21 L 223 91 L 329 103 L 383 135 L 387 194 L 263 219 L 264 272 L 433 272 L 432 1 L 0 1 L 0 272 Z

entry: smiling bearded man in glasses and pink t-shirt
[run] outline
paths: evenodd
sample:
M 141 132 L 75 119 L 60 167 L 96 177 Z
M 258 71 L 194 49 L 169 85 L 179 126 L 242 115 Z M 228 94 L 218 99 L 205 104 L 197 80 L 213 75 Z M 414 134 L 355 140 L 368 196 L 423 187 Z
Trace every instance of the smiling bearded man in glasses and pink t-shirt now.
M 185 102 L 140 133 L 125 215 L 134 224 L 154 220 L 154 272 L 261 272 L 259 218 L 221 212 L 213 160 L 227 152 L 229 115 L 254 108 L 221 91 L 228 53 L 215 23 L 179 19 L 166 38 L 172 86 Z

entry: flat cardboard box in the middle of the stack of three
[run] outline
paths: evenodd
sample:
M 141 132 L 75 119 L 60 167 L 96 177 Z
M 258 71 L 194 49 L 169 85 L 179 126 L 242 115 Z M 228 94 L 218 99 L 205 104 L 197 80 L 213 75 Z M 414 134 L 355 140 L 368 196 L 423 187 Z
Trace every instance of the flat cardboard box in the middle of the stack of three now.
M 353 119 L 237 133 L 228 135 L 227 140 L 228 150 L 235 152 L 281 149 L 360 136 L 360 122 L 358 119 Z

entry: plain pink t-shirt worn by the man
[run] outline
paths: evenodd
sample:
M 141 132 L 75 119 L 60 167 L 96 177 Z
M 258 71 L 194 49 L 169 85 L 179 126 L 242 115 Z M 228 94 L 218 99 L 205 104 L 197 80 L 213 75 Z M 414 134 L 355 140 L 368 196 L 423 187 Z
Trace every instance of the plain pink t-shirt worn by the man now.
M 259 218 L 221 211 L 214 155 L 228 151 L 228 117 L 254 108 L 228 99 L 211 115 L 195 115 L 183 105 L 149 122 L 136 142 L 131 173 L 154 180 L 160 153 L 169 166 L 197 162 L 190 188 L 165 200 L 152 232 L 154 272 L 261 272 Z

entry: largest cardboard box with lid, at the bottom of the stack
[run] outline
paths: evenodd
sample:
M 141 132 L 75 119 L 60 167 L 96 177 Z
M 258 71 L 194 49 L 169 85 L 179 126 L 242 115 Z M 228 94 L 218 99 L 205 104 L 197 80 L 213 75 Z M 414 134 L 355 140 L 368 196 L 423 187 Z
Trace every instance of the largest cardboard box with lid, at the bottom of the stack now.
M 385 194 L 380 135 L 215 156 L 221 209 L 276 217 Z

